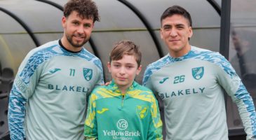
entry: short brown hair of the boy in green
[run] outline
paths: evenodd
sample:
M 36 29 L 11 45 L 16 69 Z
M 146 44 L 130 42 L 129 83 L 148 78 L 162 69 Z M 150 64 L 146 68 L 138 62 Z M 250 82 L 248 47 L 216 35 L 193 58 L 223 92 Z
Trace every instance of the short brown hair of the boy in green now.
M 132 41 L 123 40 L 116 43 L 110 53 L 109 62 L 112 62 L 112 60 L 122 59 L 123 55 L 133 55 L 137 62 L 137 66 L 140 66 L 142 54 L 139 50 L 139 46 Z

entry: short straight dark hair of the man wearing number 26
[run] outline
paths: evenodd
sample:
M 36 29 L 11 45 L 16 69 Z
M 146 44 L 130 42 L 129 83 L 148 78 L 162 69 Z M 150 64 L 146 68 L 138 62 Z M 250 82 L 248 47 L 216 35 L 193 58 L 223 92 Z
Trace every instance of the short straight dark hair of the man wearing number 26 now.
M 163 19 L 173 15 L 182 15 L 184 18 L 186 18 L 189 21 L 189 26 L 192 27 L 192 20 L 189 12 L 187 12 L 187 10 L 185 10 L 181 6 L 171 6 L 167 8 L 161 15 L 161 25 L 162 25 Z

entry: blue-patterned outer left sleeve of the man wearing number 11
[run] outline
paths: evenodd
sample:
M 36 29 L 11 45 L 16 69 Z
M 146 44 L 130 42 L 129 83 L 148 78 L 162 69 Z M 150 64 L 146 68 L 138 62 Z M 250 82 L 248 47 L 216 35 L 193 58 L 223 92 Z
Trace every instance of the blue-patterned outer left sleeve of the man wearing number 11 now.
M 8 104 L 8 127 L 11 139 L 25 139 L 26 105 L 39 79 L 37 68 L 43 62 L 41 60 L 41 55 L 34 54 L 34 50 L 30 51 L 15 76 Z

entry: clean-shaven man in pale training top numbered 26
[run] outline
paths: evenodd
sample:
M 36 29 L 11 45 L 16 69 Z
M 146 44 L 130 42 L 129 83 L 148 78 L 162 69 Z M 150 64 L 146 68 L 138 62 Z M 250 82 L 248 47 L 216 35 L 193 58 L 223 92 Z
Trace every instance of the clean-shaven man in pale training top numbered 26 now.
M 161 15 L 165 57 L 150 64 L 143 84 L 163 100 L 166 139 L 228 139 L 224 91 L 238 106 L 247 139 L 256 138 L 250 94 L 222 55 L 189 45 L 191 17 L 180 6 Z

